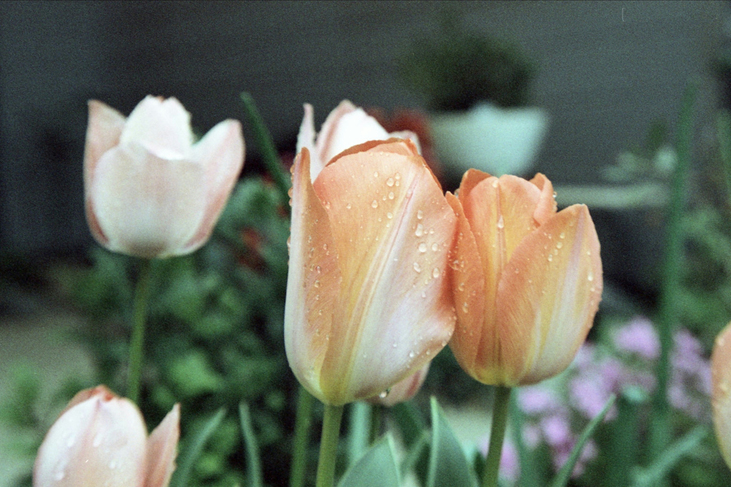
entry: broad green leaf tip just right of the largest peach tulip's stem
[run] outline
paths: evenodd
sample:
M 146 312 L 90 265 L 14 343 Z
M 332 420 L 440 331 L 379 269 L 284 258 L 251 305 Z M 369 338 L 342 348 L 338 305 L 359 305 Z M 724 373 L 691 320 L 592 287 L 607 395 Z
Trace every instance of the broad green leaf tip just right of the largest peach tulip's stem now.
M 338 487 L 398 487 L 401 483 L 396 466 L 393 438 L 390 434 L 378 440 L 345 472 Z

